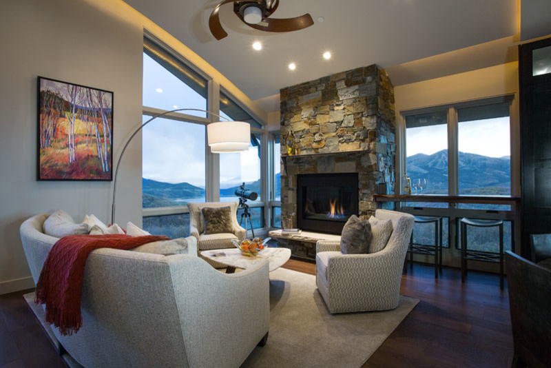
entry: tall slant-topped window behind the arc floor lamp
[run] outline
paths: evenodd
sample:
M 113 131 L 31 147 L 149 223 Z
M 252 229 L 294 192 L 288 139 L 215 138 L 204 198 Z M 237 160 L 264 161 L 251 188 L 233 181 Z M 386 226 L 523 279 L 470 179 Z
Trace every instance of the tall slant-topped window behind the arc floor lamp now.
M 212 154 L 207 148 L 206 125 L 218 116 L 183 110 L 216 109 L 209 100 L 208 88 L 216 85 L 183 60 L 145 38 L 143 48 L 143 121 L 167 112 L 143 128 L 143 227 L 152 234 L 171 238 L 189 235 L 188 202 L 237 201 L 234 194 L 241 183 L 258 193 L 251 205 L 255 229 L 264 228 L 267 214 L 261 201 L 262 146 L 266 130 L 251 114 L 220 92 L 220 115 L 251 125 L 251 143 L 247 152 Z M 218 90 L 218 88 L 214 88 Z M 223 120 L 223 119 L 222 119 Z M 219 160 L 220 172 L 214 167 Z M 220 191 L 213 190 L 220 183 Z M 266 181 L 267 182 L 267 181 Z M 238 221 L 242 210 L 238 212 Z M 245 223 L 242 224 L 245 226 Z

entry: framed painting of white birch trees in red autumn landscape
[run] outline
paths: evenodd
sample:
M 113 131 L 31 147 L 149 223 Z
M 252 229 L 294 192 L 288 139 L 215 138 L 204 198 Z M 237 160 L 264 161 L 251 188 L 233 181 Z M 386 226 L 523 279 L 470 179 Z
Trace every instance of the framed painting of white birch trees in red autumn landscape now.
M 38 78 L 38 180 L 111 181 L 113 92 Z

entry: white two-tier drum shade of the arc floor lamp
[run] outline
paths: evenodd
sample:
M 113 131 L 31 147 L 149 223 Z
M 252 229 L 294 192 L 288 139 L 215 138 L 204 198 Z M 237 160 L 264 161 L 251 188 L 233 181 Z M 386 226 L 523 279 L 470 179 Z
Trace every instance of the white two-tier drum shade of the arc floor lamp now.
M 251 125 L 242 121 L 210 123 L 207 136 L 212 153 L 247 151 L 251 143 Z

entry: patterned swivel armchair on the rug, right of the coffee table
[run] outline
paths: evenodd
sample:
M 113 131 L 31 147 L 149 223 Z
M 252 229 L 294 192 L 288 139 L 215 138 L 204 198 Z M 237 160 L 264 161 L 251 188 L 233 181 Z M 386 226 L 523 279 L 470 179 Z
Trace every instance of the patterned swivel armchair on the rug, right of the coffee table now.
M 375 217 L 391 219 L 393 232 L 382 251 L 342 254 L 340 243 L 318 241 L 315 283 L 331 313 L 382 311 L 398 306 L 402 267 L 414 217 L 377 209 Z

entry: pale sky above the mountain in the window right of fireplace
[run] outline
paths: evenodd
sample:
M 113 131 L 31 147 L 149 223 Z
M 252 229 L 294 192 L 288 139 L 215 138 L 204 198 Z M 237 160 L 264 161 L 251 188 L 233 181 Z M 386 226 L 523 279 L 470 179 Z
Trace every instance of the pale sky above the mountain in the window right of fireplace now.
M 448 148 L 447 126 L 431 125 L 406 130 L 407 156 L 434 154 Z M 489 157 L 510 156 L 509 117 L 465 121 L 458 125 L 459 152 Z

